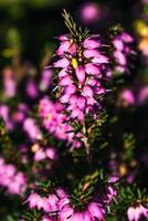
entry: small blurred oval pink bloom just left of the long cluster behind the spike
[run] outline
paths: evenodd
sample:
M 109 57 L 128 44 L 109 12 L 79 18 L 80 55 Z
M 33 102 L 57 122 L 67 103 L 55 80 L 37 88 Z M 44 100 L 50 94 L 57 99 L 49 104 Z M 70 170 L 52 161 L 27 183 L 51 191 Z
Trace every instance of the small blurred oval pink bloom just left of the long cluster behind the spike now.
M 27 118 L 23 122 L 23 129 L 29 135 L 31 139 L 41 139 L 42 134 L 40 131 L 39 126 L 36 125 L 35 120 L 32 118 Z

